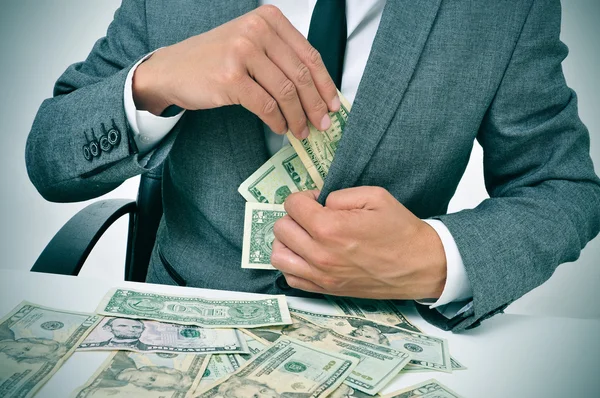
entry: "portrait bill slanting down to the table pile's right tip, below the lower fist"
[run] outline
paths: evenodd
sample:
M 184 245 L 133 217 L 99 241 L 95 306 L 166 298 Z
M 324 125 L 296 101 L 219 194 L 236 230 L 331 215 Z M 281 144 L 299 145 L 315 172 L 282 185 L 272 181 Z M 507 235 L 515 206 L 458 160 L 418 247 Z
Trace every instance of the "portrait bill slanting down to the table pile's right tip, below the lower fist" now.
M 412 357 L 411 365 L 452 372 L 448 342 L 445 339 L 359 317 L 317 314 L 298 309 L 290 309 L 290 311 L 292 317 L 302 316 L 344 336 L 352 336 L 362 341 L 408 352 Z

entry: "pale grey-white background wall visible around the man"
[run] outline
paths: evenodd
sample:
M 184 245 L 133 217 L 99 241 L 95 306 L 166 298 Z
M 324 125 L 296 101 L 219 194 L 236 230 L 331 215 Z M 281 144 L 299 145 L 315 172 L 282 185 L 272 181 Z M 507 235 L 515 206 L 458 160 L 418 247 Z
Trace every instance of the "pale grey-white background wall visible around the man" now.
M 119 0 L 5 0 L 0 12 L 0 267 L 28 270 L 54 233 L 90 202 L 54 204 L 29 182 L 24 149 L 41 102 L 65 68 L 85 59 L 103 36 Z M 563 1 L 562 39 L 571 52 L 564 62 L 579 96 L 581 118 L 591 135 L 591 155 L 600 172 L 600 2 Z M 482 151 L 476 145 L 450 212 L 475 207 L 487 197 Z M 135 198 L 139 179 L 105 198 Z M 122 279 L 127 221 L 117 222 L 90 255 L 82 275 Z M 600 318 L 600 238 L 581 258 L 564 264 L 544 285 L 507 312 Z

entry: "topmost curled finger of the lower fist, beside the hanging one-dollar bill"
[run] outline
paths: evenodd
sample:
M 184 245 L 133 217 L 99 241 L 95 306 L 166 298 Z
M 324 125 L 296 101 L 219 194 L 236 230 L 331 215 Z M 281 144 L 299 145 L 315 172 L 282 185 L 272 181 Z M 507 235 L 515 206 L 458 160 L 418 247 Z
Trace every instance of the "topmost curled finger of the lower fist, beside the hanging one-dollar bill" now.
M 288 196 L 283 204 L 288 215 L 312 237 L 323 225 L 327 214 L 317 198 L 318 191 L 296 192 Z

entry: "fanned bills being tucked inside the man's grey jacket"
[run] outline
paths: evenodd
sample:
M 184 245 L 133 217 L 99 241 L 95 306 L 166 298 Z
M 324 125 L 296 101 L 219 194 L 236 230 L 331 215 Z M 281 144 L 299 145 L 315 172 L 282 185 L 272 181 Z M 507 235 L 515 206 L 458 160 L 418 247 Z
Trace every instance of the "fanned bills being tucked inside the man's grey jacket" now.
M 350 113 L 350 104 L 338 92 L 340 110 L 331 112 L 331 126 L 319 131 L 310 122 L 303 140 L 291 132 L 289 144 L 256 170 L 238 188 L 248 201 L 244 220 L 242 268 L 271 269 L 273 224 L 286 213 L 283 202 L 293 192 L 323 188 Z

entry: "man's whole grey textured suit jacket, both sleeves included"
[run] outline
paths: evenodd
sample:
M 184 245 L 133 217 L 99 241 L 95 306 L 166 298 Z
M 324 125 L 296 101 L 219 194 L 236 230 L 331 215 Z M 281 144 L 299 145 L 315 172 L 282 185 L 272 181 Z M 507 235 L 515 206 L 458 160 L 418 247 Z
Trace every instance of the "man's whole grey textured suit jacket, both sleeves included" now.
M 240 268 L 245 201 L 236 189 L 267 160 L 255 116 L 239 106 L 186 112 L 144 158 L 127 134 L 123 86 L 138 59 L 256 6 L 124 0 L 106 37 L 60 77 L 33 123 L 28 171 L 51 201 L 102 195 L 164 162 L 150 281 L 302 294 L 282 290 L 274 272 Z M 383 12 L 322 198 L 377 185 L 418 217 L 443 221 L 474 294 L 455 331 L 543 283 L 600 228 L 600 183 L 562 74 L 559 32 L 558 0 L 394 0 Z M 82 148 L 111 126 L 121 140 L 86 160 Z M 475 139 L 491 198 L 446 214 Z

